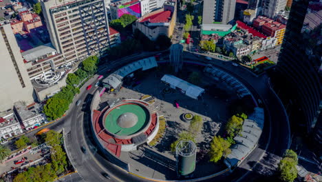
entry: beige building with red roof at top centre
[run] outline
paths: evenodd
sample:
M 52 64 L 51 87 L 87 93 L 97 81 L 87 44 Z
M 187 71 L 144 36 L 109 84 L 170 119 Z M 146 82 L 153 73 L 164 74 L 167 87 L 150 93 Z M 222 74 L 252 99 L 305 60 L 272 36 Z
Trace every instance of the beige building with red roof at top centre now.
M 177 19 L 176 4 L 174 1 L 164 2 L 164 8 L 144 15 L 133 24 L 133 30 L 140 30 L 151 41 L 159 35 L 171 37 Z

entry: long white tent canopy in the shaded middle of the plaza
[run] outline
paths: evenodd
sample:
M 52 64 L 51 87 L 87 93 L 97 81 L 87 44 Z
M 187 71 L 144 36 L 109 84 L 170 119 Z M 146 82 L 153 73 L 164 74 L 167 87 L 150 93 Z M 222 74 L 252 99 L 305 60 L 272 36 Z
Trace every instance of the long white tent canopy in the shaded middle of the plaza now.
M 161 81 L 165 83 L 169 83 L 171 88 L 179 88 L 188 97 L 191 97 L 193 99 L 197 99 L 197 97 L 199 97 L 202 93 L 204 93 L 203 88 L 200 88 L 196 85 L 193 85 L 189 82 L 179 79 L 171 74 L 164 74 Z

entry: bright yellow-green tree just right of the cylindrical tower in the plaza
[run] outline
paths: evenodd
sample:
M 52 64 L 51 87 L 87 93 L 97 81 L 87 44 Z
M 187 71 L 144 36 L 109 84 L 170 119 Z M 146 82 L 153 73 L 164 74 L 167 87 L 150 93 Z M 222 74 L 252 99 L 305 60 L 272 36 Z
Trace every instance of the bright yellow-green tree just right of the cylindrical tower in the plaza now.
M 214 136 L 213 141 L 211 141 L 211 149 L 209 150 L 210 161 L 217 163 L 222 156 L 227 156 L 230 154 L 229 149 L 230 143 L 223 139 L 221 136 Z

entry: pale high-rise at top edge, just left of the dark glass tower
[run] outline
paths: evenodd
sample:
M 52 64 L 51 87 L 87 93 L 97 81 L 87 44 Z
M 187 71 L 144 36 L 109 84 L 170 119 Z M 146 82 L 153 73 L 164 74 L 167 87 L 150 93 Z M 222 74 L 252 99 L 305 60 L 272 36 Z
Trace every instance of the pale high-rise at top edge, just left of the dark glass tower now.
M 287 0 L 262 0 L 261 13 L 267 17 L 274 18 L 277 12 L 284 10 Z

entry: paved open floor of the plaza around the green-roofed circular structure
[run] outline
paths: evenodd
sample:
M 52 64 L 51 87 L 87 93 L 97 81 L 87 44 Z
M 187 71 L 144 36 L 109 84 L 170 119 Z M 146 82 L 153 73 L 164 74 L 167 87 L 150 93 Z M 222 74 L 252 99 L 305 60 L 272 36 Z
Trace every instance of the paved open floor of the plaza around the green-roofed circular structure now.
M 211 91 L 207 89 L 206 93 L 199 100 L 187 97 L 178 90 L 172 90 L 171 93 L 164 94 L 162 90 L 169 88 L 169 86 L 161 82 L 163 75 L 164 73 L 158 72 L 158 70 L 145 72 L 143 75 L 139 75 L 135 81 L 124 84 L 123 88 L 116 95 L 103 94 L 100 105 L 103 108 L 107 105 L 105 101 L 113 103 L 118 99 L 141 99 L 146 94 L 154 97 L 155 103 L 153 105 L 158 110 L 159 116 L 163 115 L 167 120 L 167 130 L 163 139 L 153 148 L 144 145 L 133 152 L 121 152 L 120 159 L 130 163 L 131 172 L 155 179 L 170 179 L 171 176 L 176 176 L 175 156 L 170 152 L 170 145 L 176 140 L 180 132 L 189 128 L 189 123 L 182 119 L 182 114 L 189 112 L 202 117 L 204 127 L 197 136 L 196 142 L 198 151 L 200 149 L 205 151 L 208 150 L 208 143 L 213 136 L 218 132 L 222 132 L 220 127 L 229 117 L 228 105 L 230 99 L 237 98 L 235 95 L 231 95 L 228 99 L 214 97 L 208 93 Z M 215 83 L 214 80 L 206 77 L 206 75 L 203 75 L 202 79 L 204 79 L 200 83 L 202 88 L 207 88 L 207 86 L 213 84 L 221 88 L 225 86 L 220 85 L 221 83 Z M 135 82 L 140 83 L 133 85 L 132 83 Z M 230 90 L 227 90 L 227 93 L 234 94 Z M 178 101 L 180 108 L 175 108 L 175 101 Z M 197 158 L 198 155 L 200 154 L 197 153 Z M 207 157 L 205 157 L 197 163 L 195 176 L 213 174 L 223 168 L 224 166 L 222 165 L 209 163 Z

